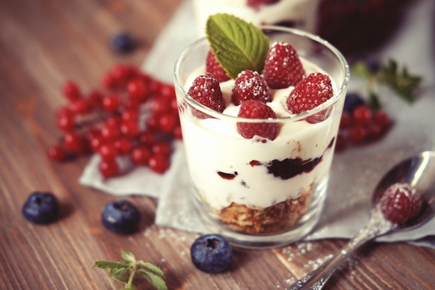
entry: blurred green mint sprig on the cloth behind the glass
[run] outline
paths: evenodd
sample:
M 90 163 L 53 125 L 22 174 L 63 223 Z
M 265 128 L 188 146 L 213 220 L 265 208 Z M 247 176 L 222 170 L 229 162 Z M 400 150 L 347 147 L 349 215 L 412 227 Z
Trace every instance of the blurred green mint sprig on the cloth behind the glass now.
M 411 104 L 417 98 L 417 90 L 422 81 L 421 76 L 410 74 L 406 66 L 399 67 L 392 59 L 373 72 L 364 61 L 358 61 L 352 66 L 352 74 L 368 80 L 370 103 L 379 106 L 379 95 L 375 92 L 377 84 L 390 87 L 398 97 Z

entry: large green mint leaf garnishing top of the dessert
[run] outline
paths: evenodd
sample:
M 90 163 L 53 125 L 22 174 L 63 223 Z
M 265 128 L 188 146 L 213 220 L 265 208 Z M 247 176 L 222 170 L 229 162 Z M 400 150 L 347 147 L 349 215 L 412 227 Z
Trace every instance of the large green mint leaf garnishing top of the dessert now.
M 206 37 L 216 60 L 232 79 L 244 70 L 263 71 L 269 39 L 254 24 L 217 13 L 207 19 Z

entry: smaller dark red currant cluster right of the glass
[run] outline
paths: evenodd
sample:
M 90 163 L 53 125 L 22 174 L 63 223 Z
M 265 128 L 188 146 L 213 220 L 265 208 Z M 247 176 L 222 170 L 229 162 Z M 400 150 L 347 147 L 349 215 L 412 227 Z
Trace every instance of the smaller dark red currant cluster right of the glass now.
M 343 111 L 338 131 L 336 150 L 345 150 L 347 145 L 361 145 L 379 140 L 391 127 L 391 119 L 381 110 L 372 111 L 361 104 L 352 111 Z

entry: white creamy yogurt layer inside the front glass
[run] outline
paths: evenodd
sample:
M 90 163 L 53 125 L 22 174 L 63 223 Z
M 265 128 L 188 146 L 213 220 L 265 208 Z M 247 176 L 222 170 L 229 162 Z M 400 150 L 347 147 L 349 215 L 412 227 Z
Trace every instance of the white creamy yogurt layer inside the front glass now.
M 320 71 L 304 59 L 301 61 L 307 74 Z M 186 92 L 193 79 L 202 73 L 204 67 L 189 77 Z M 221 83 L 221 90 L 227 104 L 224 114 L 236 116 L 240 105 L 231 104 L 233 83 L 234 80 Z M 286 108 L 291 90 L 293 87 L 271 90 L 273 99 L 267 104 L 280 117 L 292 115 Z M 338 131 L 340 115 L 341 112 L 331 111 L 327 120 L 317 124 L 305 120 L 283 121 L 277 138 L 268 140 L 258 136 L 243 138 L 237 131 L 236 122 L 229 120 L 231 118 L 199 119 L 184 111 L 180 113 L 180 120 L 192 182 L 201 198 L 216 210 L 231 202 L 248 207 L 269 207 L 288 198 L 297 198 L 314 182 L 327 176 L 334 154 L 331 140 Z M 309 164 L 319 158 L 321 161 L 312 170 L 288 179 L 275 177 L 267 166 L 275 159 L 300 159 Z

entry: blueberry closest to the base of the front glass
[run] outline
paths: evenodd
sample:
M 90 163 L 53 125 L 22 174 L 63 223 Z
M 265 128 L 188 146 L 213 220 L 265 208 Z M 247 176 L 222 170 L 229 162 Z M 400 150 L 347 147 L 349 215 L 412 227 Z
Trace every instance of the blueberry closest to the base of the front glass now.
M 206 273 L 220 273 L 229 267 L 233 253 L 231 245 L 219 234 L 199 236 L 190 247 L 192 263 Z

